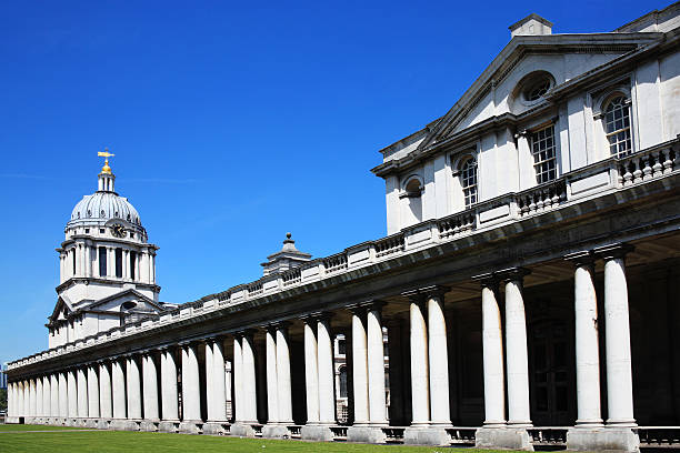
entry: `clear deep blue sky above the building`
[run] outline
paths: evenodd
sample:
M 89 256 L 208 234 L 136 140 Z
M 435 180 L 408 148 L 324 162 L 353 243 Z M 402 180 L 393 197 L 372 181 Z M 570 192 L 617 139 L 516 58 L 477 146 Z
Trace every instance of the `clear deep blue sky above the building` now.
M 287 3 L 287 4 L 283 4 Z M 54 249 L 97 189 L 160 246 L 160 299 L 386 234 L 381 148 L 444 114 L 536 12 L 606 32 L 668 2 L 3 1 L 0 363 L 47 349 Z

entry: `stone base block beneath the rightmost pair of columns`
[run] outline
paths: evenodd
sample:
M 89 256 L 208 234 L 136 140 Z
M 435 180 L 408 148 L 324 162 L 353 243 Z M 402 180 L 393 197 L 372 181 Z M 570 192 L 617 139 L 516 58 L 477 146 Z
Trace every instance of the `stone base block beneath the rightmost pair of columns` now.
M 626 427 L 572 427 L 567 432 L 567 450 L 637 453 L 640 436 Z

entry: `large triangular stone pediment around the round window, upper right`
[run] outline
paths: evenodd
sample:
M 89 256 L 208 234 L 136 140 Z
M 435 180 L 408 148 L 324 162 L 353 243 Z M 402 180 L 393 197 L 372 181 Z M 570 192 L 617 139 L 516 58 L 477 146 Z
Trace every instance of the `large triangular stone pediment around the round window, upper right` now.
M 427 128 L 416 153 L 492 117 L 531 110 L 537 103 L 520 102 L 518 90 L 522 80 L 536 71 L 551 76 L 552 90 L 661 37 L 661 33 L 514 37 L 458 102 Z

